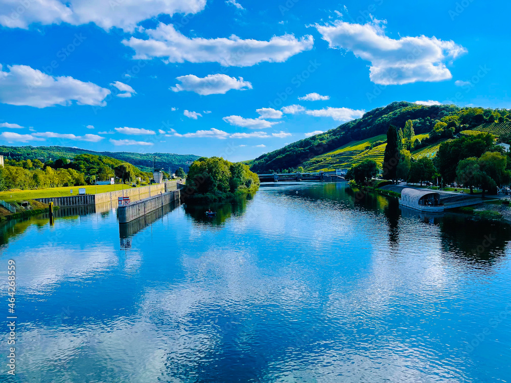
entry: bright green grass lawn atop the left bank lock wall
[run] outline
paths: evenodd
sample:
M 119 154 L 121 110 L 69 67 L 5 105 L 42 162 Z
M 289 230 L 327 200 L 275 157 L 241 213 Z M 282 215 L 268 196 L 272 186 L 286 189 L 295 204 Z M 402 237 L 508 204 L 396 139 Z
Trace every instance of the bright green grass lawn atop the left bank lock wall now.
M 54 187 L 50 189 L 35 189 L 35 190 L 17 190 L 10 192 L 7 190 L 6 192 L 0 193 L 0 200 L 4 200 L 6 202 L 14 202 L 14 201 L 23 201 L 23 200 L 31 200 L 34 198 L 46 198 L 46 197 L 67 197 L 67 196 L 77 196 L 79 188 L 85 188 L 86 194 L 97 194 L 97 193 L 106 193 L 113 192 L 114 190 L 122 190 L 123 186 L 125 189 L 131 189 L 130 185 L 87 185 L 87 186 L 69 186 L 69 187 Z M 73 190 L 73 193 L 70 193 L 70 190 Z

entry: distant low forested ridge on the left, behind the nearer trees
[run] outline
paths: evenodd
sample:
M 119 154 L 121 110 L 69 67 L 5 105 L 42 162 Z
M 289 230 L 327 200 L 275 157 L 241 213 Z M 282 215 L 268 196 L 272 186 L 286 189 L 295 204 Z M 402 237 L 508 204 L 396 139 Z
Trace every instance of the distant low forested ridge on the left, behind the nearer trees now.
M 33 159 L 33 158 L 43 158 L 44 160 L 48 160 L 52 158 L 56 160 L 57 158 L 67 158 L 73 159 L 75 156 L 79 154 L 93 154 L 100 156 L 108 156 L 121 161 L 126 161 L 131 163 L 132 165 L 137 166 L 144 172 L 152 171 L 152 163 L 154 157 L 154 166 L 162 167 L 165 171 L 169 171 L 169 167 L 171 172 L 175 172 L 178 167 L 183 167 L 187 169 L 190 164 L 199 158 L 199 156 L 195 155 L 180 155 L 180 154 L 170 154 L 170 153 L 130 153 L 130 152 L 95 152 L 91 150 L 79 149 L 79 148 L 68 148 L 68 147 L 59 147 L 59 146 L 49 146 L 49 147 L 32 147 L 32 146 L 21 146 L 21 147 L 10 147 L 10 146 L 0 146 L 0 154 L 4 156 L 11 156 L 16 160 L 23 159 Z M 42 162 L 44 162 L 42 160 Z

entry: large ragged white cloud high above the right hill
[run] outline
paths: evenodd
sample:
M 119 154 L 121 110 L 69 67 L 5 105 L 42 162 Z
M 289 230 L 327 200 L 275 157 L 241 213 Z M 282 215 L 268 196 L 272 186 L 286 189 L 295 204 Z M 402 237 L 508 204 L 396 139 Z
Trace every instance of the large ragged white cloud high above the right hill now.
M 436 37 L 385 36 L 385 22 L 374 19 L 365 25 L 337 20 L 334 25 L 314 27 L 334 49 L 345 49 L 370 61 L 369 78 L 376 84 L 397 85 L 452 78 L 445 61 L 467 52 L 454 41 Z

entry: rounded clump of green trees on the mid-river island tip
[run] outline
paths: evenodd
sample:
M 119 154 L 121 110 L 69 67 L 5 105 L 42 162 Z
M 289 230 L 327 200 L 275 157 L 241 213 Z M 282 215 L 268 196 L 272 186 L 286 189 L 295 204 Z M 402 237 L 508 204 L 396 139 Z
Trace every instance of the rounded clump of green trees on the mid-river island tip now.
M 244 163 L 201 157 L 190 166 L 185 194 L 197 200 L 220 201 L 255 192 L 259 184 L 257 174 Z

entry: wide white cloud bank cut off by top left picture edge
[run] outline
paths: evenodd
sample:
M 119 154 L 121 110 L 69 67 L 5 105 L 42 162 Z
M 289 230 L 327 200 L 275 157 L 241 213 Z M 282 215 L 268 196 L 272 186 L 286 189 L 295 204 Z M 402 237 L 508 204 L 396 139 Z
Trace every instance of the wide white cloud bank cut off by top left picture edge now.
M 8 28 L 27 29 L 32 23 L 42 25 L 67 22 L 82 25 L 94 22 L 109 30 L 112 27 L 132 32 L 136 25 L 160 14 L 198 13 L 206 0 L 30 0 L 20 3 L 16 0 L 0 0 L 0 25 Z M 16 12 L 16 7 L 22 12 Z

